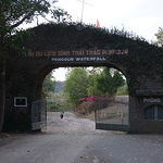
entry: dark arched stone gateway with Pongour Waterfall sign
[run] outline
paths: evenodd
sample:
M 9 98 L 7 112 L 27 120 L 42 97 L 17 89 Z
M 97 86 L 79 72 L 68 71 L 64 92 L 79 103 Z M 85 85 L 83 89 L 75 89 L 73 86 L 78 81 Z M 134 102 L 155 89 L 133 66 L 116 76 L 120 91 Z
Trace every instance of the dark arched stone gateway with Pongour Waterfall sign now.
M 161 48 L 116 29 L 48 24 L 30 30 L 30 38 L 24 42 L 30 49 L 28 57 L 14 54 L 7 62 L 5 128 L 30 129 L 32 103 L 40 100 L 42 80 L 51 70 L 109 66 L 127 79 L 128 131 L 163 133 Z

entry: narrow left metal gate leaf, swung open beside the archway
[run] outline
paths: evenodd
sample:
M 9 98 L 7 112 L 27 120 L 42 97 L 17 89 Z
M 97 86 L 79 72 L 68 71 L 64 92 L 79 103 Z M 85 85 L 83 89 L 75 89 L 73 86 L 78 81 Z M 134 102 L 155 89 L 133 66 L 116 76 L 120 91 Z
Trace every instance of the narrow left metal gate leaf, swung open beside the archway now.
M 32 130 L 47 127 L 47 101 L 39 100 L 32 104 Z

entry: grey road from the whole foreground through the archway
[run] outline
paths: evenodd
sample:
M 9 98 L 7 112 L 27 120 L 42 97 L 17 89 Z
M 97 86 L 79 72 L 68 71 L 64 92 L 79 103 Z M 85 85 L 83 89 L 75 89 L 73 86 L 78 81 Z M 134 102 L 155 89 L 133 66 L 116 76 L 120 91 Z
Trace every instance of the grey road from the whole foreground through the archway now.
M 48 113 L 42 134 L 0 140 L 0 163 L 163 163 L 163 136 L 96 130 L 73 113 Z

